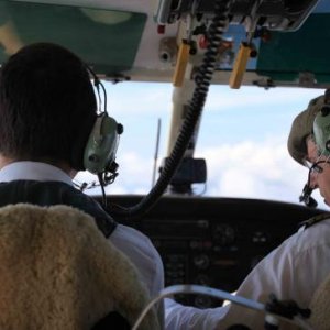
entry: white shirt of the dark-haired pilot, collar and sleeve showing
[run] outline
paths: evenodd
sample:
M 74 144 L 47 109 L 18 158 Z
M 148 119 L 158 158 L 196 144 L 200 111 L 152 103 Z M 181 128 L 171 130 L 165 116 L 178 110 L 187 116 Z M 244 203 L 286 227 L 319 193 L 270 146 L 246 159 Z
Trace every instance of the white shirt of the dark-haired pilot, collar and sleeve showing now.
M 73 185 L 70 177 L 58 167 L 37 162 L 16 162 L 0 170 L 0 182 L 53 180 Z M 118 224 L 109 240 L 127 254 L 141 273 L 152 297 L 164 287 L 164 270 L 161 256 L 150 239 L 140 231 Z

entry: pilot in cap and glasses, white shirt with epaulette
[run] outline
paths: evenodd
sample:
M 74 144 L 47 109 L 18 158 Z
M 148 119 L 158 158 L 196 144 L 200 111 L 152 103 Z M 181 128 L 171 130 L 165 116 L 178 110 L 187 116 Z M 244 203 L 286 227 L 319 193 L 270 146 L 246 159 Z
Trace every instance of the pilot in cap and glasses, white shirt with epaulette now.
M 295 161 L 308 166 L 302 198 L 314 204 L 311 191 L 319 189 L 330 206 L 330 91 L 312 99 L 296 117 L 288 136 L 288 151 Z M 237 295 L 270 302 L 294 300 L 301 309 L 310 306 L 314 293 L 330 274 L 330 216 L 306 221 L 297 233 L 264 257 L 248 275 Z M 166 300 L 167 329 L 264 329 L 265 315 L 234 304 L 213 309 L 185 308 Z M 275 327 L 275 326 L 274 326 Z M 293 327 L 293 328 L 290 328 Z M 246 329 L 246 328 L 245 328 Z M 273 328 L 270 328 L 273 329 Z M 277 329 L 277 328 L 274 328 Z M 279 329 L 297 329 L 282 323 Z

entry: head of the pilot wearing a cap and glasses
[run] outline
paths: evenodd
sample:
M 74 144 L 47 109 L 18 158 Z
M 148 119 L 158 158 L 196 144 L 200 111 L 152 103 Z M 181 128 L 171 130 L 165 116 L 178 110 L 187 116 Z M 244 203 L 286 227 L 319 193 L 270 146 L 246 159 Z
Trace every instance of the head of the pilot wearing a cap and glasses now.
M 330 205 L 330 90 L 295 118 L 287 145 L 293 158 L 309 167 L 309 187 L 319 188 Z

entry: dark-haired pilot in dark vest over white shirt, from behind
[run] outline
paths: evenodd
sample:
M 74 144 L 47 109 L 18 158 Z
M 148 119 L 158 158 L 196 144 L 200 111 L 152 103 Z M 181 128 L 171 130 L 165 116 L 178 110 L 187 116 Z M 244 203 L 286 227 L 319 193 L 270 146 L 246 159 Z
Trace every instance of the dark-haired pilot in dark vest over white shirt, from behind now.
M 73 185 L 85 169 L 84 150 L 97 112 L 89 69 L 68 50 L 36 43 L 9 57 L 0 69 L 0 206 L 62 204 L 91 215 L 155 296 L 164 271 L 148 238 L 117 223 Z

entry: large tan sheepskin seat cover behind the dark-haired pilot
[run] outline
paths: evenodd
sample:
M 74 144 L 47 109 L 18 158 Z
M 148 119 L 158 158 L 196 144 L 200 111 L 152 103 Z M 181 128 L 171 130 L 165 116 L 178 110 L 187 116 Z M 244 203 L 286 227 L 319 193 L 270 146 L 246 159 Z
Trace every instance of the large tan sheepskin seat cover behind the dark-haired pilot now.
M 90 216 L 68 206 L 0 208 L 1 330 L 90 330 L 111 310 L 133 324 L 147 301 L 138 271 Z M 140 329 L 158 329 L 155 312 Z

